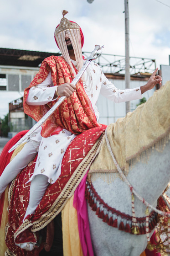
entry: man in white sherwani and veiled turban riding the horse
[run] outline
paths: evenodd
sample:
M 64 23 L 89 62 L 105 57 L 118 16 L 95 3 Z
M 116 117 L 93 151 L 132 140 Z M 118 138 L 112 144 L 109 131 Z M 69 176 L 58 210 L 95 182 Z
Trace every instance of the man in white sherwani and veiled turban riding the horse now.
M 146 85 L 126 90 L 117 89 L 103 74 L 98 64 L 91 62 L 77 85 L 72 80 L 82 68 L 82 46 L 84 37 L 77 23 L 68 21 L 64 15 L 55 30 L 55 40 L 62 57 L 46 58 L 39 72 L 24 91 L 24 112 L 39 121 L 58 101 L 66 96 L 60 107 L 26 141 L 23 149 L 6 166 L 0 176 L 0 196 L 17 174 L 34 159 L 36 166 L 31 176 L 30 199 L 23 221 L 33 214 L 49 184 L 57 181 L 61 174 L 63 155 L 77 134 L 100 127 L 96 106 L 99 93 L 114 102 L 142 98 L 145 91 L 152 89 L 161 77 L 157 69 Z M 23 243 L 22 249 L 33 250 L 35 244 Z

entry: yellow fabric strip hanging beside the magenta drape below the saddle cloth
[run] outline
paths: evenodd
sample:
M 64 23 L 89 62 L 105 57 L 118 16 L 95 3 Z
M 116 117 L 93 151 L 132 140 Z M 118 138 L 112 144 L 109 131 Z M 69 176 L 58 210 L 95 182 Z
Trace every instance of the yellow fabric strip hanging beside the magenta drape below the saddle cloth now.
M 74 195 L 62 210 L 62 237 L 64 256 L 83 256 L 80 244 L 77 210 L 73 207 Z

